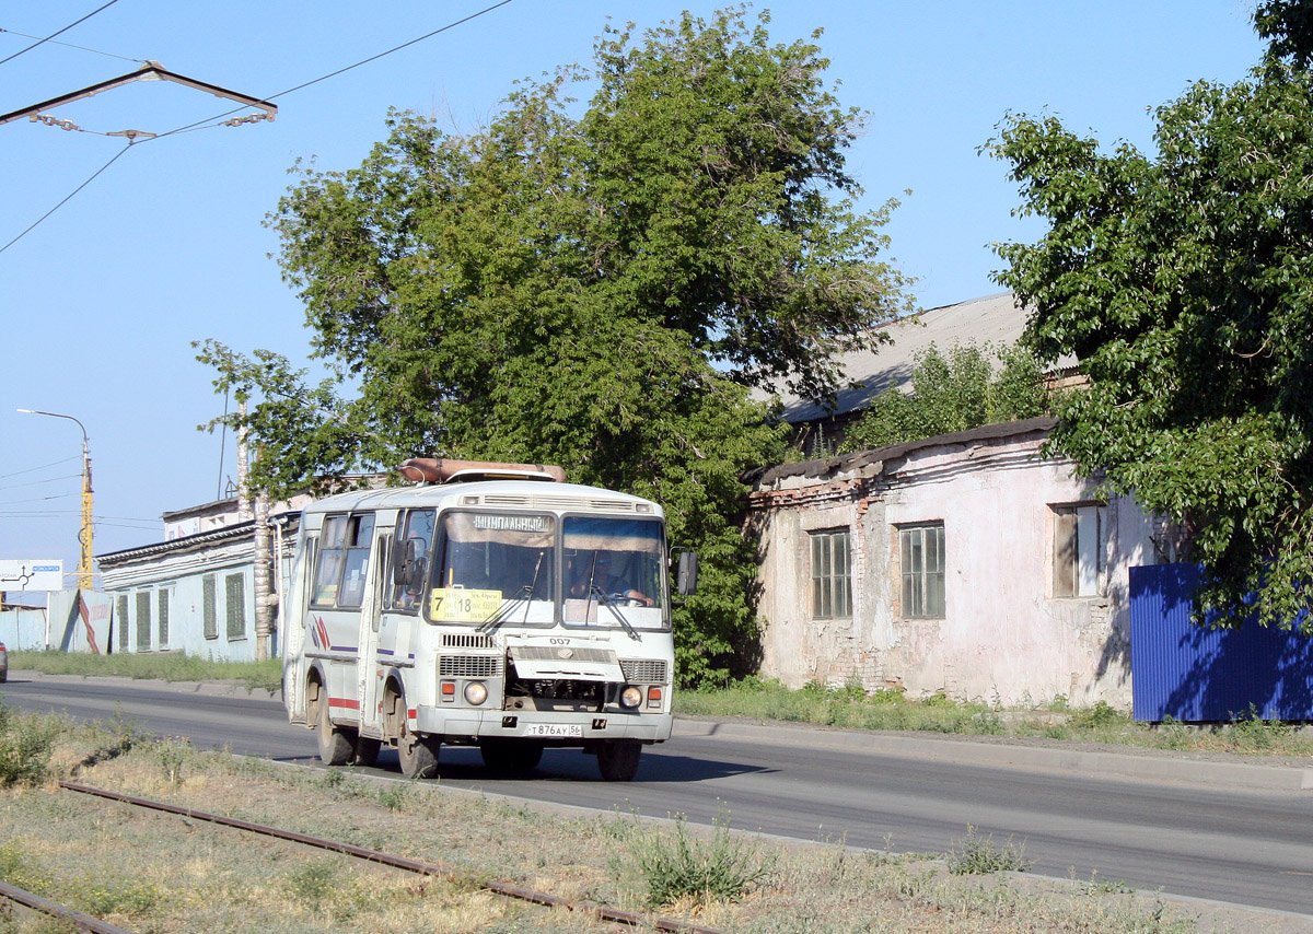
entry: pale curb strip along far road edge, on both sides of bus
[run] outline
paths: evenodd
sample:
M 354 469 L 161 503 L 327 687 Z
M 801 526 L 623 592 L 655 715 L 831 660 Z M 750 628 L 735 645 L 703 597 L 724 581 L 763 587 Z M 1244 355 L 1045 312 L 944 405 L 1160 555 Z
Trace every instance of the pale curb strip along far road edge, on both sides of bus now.
M 142 690 L 235 697 L 282 703 L 281 691 L 251 690 L 214 681 L 144 681 L 13 670 L 13 680 L 85 681 Z M 818 749 L 863 749 L 886 756 L 928 758 L 960 765 L 1048 769 L 1087 777 L 1176 782 L 1212 788 L 1253 791 L 1313 791 L 1313 760 L 1308 765 L 1263 762 L 1257 757 L 1203 756 L 1163 749 L 1088 746 L 1077 742 L 1036 745 L 1012 737 L 953 737 L 943 733 L 877 732 L 835 727 L 760 723 L 741 718 L 679 716 L 674 737 L 722 736 L 762 744 Z

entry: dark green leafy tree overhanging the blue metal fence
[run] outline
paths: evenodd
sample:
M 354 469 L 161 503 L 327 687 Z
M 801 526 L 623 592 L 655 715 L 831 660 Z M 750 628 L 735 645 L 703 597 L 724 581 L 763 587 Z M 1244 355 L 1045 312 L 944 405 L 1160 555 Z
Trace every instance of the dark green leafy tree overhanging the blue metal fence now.
M 1184 523 L 1197 618 L 1237 626 L 1292 626 L 1313 599 L 1313 81 L 1285 31 L 1306 9 L 1260 4 L 1270 54 L 1159 106 L 1157 155 L 1053 117 L 1010 115 L 990 144 L 1049 223 L 999 248 L 998 281 L 1035 308 L 1037 354 L 1090 378 L 1052 449 Z

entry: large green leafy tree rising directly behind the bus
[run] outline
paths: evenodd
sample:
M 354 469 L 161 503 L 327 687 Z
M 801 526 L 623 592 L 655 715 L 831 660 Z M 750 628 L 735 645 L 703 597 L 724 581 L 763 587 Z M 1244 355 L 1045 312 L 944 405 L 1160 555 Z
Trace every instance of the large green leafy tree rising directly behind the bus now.
M 834 352 L 907 304 L 878 257 L 893 205 L 857 211 L 844 171 L 860 114 L 767 24 L 608 29 L 591 72 L 523 83 L 486 130 L 394 113 L 360 168 L 298 168 L 269 223 L 330 384 L 201 352 L 257 400 L 257 479 L 437 454 L 650 496 L 704 558 L 681 676 L 722 673 L 755 635 L 739 475 L 784 450 L 750 387 L 832 392 Z

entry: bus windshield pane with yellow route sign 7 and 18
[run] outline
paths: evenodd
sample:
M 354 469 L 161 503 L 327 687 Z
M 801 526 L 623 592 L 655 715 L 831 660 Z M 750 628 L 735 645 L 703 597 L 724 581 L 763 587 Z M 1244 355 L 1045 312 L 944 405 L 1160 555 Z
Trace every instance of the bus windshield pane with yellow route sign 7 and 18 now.
M 490 626 L 554 622 L 554 543 L 551 516 L 446 513 L 425 615 Z

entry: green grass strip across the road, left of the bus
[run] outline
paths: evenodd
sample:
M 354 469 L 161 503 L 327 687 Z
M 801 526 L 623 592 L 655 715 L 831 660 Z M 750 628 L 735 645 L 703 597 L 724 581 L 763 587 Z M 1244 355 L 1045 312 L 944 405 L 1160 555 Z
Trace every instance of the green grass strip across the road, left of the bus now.
M 46 674 L 118 676 L 156 681 L 235 681 L 246 687 L 278 690 L 282 662 L 211 661 L 194 655 L 91 655 L 89 652 L 11 652 L 9 668 Z

